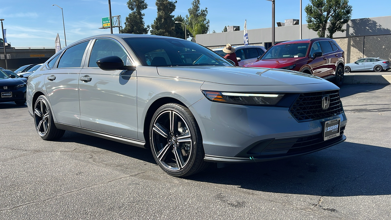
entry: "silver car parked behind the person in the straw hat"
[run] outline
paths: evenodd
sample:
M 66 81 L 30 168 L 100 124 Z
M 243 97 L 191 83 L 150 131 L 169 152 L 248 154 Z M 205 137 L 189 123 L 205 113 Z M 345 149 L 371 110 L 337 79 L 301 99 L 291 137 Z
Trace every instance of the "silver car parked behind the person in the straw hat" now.
M 222 51 L 224 47 L 213 49 L 214 52 L 220 54 L 221 56 L 227 55 Z M 239 67 L 243 67 L 243 65 L 247 63 L 251 63 L 257 60 L 259 56 L 262 56 L 266 49 L 262 46 L 234 46 L 235 48 L 235 54 L 237 56 L 237 60 L 239 63 Z

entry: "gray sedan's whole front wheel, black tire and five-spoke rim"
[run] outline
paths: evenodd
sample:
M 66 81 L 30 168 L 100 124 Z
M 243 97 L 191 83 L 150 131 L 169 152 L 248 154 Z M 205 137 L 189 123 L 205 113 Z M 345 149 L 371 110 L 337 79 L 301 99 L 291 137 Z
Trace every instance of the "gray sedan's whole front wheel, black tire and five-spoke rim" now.
M 208 165 L 198 124 L 185 106 L 168 103 L 156 110 L 149 142 L 156 163 L 171 176 L 193 175 Z

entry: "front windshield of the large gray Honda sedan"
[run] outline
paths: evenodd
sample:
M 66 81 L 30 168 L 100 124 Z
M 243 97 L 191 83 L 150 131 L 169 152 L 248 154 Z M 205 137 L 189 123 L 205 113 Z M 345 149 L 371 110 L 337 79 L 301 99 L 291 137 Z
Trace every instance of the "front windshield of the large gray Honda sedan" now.
M 229 66 L 212 50 L 187 40 L 167 38 L 124 38 L 144 66 Z

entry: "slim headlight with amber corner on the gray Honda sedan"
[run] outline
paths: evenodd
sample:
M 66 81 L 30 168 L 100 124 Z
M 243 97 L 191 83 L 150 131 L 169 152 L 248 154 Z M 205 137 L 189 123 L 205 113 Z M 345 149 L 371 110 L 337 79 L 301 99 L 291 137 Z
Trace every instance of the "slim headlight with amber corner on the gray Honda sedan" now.
M 284 96 L 284 94 L 201 91 L 212 102 L 236 105 L 276 105 Z

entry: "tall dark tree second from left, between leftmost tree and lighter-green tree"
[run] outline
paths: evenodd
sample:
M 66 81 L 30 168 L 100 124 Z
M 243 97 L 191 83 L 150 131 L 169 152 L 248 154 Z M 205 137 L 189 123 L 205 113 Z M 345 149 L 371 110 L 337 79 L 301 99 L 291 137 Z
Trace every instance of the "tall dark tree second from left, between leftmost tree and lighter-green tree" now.
M 151 34 L 160 36 L 175 37 L 175 23 L 174 15 L 176 2 L 170 0 L 156 0 L 156 7 L 158 9 L 158 16 L 151 25 Z

